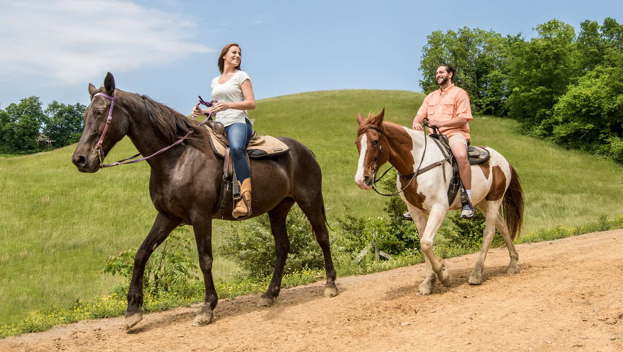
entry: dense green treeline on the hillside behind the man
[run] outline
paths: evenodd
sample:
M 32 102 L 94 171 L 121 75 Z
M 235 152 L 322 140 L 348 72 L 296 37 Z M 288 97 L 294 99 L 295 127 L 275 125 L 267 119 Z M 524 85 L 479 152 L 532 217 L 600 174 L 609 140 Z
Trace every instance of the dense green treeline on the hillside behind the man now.
M 422 90 L 438 89 L 437 65 L 450 63 L 474 113 L 510 116 L 525 134 L 623 162 L 623 25 L 586 20 L 576 34 L 552 19 L 535 30 L 530 40 L 467 27 L 432 32 Z

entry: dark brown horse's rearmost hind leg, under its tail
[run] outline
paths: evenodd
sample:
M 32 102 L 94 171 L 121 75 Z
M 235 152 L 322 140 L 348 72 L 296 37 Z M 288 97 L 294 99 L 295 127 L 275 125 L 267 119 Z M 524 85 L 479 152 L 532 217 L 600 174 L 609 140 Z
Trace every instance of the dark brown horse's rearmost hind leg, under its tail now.
M 329 231 L 325 226 L 325 213 L 323 211 L 323 200 L 320 193 L 318 197 L 307 200 L 297 200 L 298 206 L 301 208 L 307 220 L 312 225 L 313 233 L 316 235 L 316 241 L 320 244 L 320 248 L 325 256 L 326 285 L 325 297 L 335 297 L 338 295 L 338 287 L 335 285 L 335 267 L 333 267 L 333 259 L 331 259 L 331 248 L 329 245 Z

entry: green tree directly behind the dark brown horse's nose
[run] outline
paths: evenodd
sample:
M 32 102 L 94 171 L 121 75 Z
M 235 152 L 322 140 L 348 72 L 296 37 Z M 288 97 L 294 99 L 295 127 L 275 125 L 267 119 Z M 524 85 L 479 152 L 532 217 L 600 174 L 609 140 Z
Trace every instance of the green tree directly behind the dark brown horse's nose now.
M 57 148 L 77 142 L 82 132 L 82 114 L 86 108 L 80 103 L 65 105 L 52 101 L 44 111 L 43 134 L 54 141 Z

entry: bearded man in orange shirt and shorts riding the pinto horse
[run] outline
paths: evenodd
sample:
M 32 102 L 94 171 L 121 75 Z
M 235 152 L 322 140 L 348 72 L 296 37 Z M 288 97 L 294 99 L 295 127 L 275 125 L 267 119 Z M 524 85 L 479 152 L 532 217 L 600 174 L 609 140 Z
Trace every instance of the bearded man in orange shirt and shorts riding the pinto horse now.
M 424 98 L 424 102 L 413 119 L 413 128 L 423 131 L 422 120 L 428 119 L 430 126 L 439 127 L 439 132 L 448 137 L 450 149 L 459 165 L 459 175 L 468 202 L 462 206 L 461 217 L 471 219 L 476 216 L 472 206 L 472 168 L 467 159 L 467 144 L 470 140 L 469 124 L 472 120 L 472 109 L 467 92 L 452 83 L 454 81 L 454 67 L 442 64 L 435 73 L 439 90 L 432 91 Z M 407 212 L 406 218 L 411 218 Z

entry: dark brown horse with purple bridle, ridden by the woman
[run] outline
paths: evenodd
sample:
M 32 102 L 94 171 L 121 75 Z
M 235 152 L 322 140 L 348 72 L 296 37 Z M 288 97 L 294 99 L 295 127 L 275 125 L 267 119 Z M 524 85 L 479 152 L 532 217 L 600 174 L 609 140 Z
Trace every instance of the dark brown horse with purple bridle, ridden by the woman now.
M 206 325 L 211 322 L 218 301 L 212 280 L 212 218 L 219 201 L 223 160 L 212 152 L 204 127 L 197 127 L 196 121 L 147 96 L 115 89 L 115 80 L 110 73 L 106 75 L 102 88 L 89 85 L 88 93 L 91 103 L 83 116 L 84 131 L 72 156 L 72 162 L 80 172 L 97 172 L 101 167 L 96 146 L 104 131 L 112 100 L 98 93 L 116 98 L 112 123 L 102 144 L 103 156 L 123 136 L 130 137 L 142 155 L 151 155 L 193 131 L 183 143 L 147 160 L 151 167 L 151 201 L 158 215 L 134 259 L 125 327 L 129 329 L 143 318 L 143 272 L 151 252 L 184 221 L 193 225 L 199 267 L 206 285 L 205 304 L 194 318 L 193 325 Z M 279 139 L 290 146 L 290 152 L 270 159 L 250 160 L 253 216 L 269 214 L 277 251 L 275 271 L 268 289 L 257 303 L 259 307 L 270 307 L 279 294 L 283 266 L 290 248 L 285 220 L 294 203 L 310 221 L 325 256 L 324 295 L 333 297 L 338 294 L 325 226 L 320 165 L 300 142 L 287 137 Z M 228 208 L 232 209 L 232 200 L 229 200 Z M 226 211 L 223 218 L 234 220 L 231 211 Z

